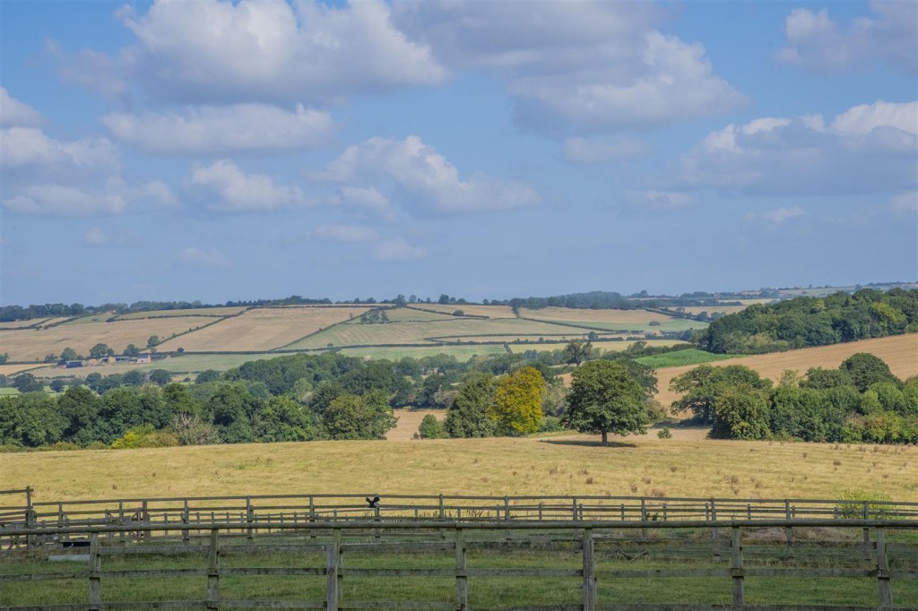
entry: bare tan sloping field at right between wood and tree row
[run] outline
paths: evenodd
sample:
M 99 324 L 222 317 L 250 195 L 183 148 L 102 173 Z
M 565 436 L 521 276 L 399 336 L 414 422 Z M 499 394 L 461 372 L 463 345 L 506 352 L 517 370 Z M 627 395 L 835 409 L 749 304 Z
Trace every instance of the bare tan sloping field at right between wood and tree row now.
M 890 370 L 902 380 L 918 375 L 918 335 L 897 335 L 890 338 L 865 339 L 847 344 L 834 346 L 820 346 L 818 348 L 805 348 L 803 350 L 789 350 L 787 352 L 772 352 L 738 359 L 727 359 L 711 363 L 715 366 L 745 365 L 772 380 L 778 380 L 784 370 L 792 369 L 805 373 L 811 367 L 834 369 L 856 352 L 869 352 L 877 355 L 890 366 Z M 660 389 L 656 395 L 657 401 L 669 405 L 678 397 L 669 392 L 669 382 L 682 373 L 694 369 L 698 365 L 684 365 L 681 367 L 666 367 L 656 370 L 657 387 Z

